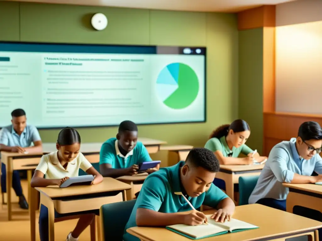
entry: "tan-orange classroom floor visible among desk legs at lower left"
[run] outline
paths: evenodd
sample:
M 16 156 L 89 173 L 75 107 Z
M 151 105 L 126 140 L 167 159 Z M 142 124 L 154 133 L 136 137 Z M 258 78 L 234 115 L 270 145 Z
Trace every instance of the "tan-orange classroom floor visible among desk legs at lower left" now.
M 26 199 L 28 199 L 27 181 L 22 180 L 21 184 L 23 187 L 24 195 Z M 2 203 L 2 195 L 0 196 L 0 203 Z M 15 194 L 12 196 L 12 199 L 15 202 L 18 202 Z M 22 210 L 20 209 L 18 203 L 13 204 L 13 209 Z M 38 217 L 39 212 L 36 213 L 36 241 L 40 241 Z M 77 219 L 55 223 L 55 241 L 65 241 L 69 232 L 71 232 L 71 230 L 76 226 L 76 223 Z M 13 215 L 13 220 L 8 221 L 7 205 L 2 205 L 2 208 L 0 208 L 0 230 L 0 241 L 30 240 L 30 221 L 28 212 L 26 211 L 26 214 Z M 81 234 L 79 240 L 90 241 L 90 228 L 86 228 L 86 230 Z

